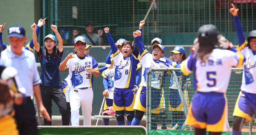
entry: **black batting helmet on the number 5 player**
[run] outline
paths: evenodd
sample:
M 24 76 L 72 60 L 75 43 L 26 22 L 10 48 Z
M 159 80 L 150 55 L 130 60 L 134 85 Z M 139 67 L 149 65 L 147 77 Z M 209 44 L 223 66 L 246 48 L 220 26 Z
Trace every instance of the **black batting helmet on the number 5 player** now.
M 198 42 L 200 46 L 216 45 L 219 32 L 212 24 L 203 25 L 198 29 Z

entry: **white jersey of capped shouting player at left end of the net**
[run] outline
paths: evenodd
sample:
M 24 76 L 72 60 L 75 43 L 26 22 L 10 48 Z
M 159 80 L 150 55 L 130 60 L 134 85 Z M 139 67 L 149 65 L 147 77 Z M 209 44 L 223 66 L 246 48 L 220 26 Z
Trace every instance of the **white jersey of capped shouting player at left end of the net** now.
M 142 78 L 140 86 L 147 86 L 147 72 L 152 68 L 161 68 L 161 66 L 171 67 L 169 63 L 163 62 L 161 60 L 154 60 L 152 54 L 147 50 L 144 51 L 145 54 L 141 56 L 140 62 L 142 63 Z M 161 84 L 163 83 L 163 71 L 154 71 L 151 74 L 151 86 L 156 89 L 160 89 Z

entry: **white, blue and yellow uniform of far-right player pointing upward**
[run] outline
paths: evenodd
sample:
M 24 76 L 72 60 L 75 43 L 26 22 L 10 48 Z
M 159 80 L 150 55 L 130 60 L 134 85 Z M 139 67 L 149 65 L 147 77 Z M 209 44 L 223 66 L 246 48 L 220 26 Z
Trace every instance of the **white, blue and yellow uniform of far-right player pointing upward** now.
M 256 115 L 256 83 L 254 81 L 256 80 L 256 52 L 248 47 L 250 45 L 247 45 L 238 16 L 234 16 L 234 23 L 239 42 L 236 49 L 244 55 L 246 62 L 243 63 L 241 92 L 236 101 L 233 115 L 245 118 L 245 122 L 250 122 L 253 114 Z

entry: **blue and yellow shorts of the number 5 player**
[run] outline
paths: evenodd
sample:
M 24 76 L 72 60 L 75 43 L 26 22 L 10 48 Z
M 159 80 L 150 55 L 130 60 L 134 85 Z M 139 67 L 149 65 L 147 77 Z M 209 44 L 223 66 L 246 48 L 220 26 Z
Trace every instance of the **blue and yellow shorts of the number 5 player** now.
M 222 132 L 227 124 L 227 98 L 219 92 L 196 92 L 187 115 L 187 125 L 209 132 Z

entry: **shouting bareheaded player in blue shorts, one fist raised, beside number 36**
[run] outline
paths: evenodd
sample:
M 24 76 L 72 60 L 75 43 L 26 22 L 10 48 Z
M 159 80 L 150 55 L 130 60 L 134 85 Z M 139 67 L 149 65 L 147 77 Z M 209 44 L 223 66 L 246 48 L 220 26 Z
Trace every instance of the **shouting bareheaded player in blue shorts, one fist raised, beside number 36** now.
M 109 33 L 109 28 L 105 28 L 104 31 L 107 34 L 108 43 L 113 52 L 112 59 L 116 66 L 113 110 L 116 111 L 117 125 L 125 125 L 125 113 L 127 123 L 131 125 L 131 121 L 134 118 L 133 106 L 135 99 L 132 89 L 136 85 L 136 69 L 139 60 L 134 55 L 131 55 L 133 50 L 131 41 L 124 41 L 122 43 L 122 53 L 120 53 Z

